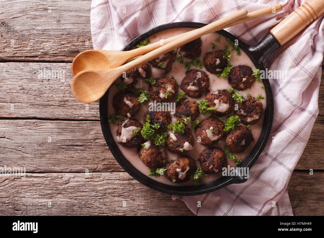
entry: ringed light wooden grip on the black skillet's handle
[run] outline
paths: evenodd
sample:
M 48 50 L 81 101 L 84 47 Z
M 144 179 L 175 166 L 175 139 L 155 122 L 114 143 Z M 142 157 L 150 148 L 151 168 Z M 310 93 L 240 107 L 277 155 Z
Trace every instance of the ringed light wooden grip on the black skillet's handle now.
M 276 25 L 270 33 L 282 46 L 324 13 L 324 0 L 308 0 Z

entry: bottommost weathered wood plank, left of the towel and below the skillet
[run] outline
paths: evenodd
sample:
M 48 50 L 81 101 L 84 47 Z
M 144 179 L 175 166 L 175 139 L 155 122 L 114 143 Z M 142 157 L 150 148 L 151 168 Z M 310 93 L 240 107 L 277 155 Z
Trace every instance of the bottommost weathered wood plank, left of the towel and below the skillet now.
M 180 200 L 123 173 L 1 177 L 2 215 L 194 215 Z

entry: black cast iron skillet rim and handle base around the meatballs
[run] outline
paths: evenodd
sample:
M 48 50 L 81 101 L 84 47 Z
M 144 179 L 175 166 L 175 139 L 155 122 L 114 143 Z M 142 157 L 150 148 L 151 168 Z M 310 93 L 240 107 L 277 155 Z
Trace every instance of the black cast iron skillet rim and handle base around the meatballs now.
M 171 28 L 178 28 L 178 27 L 190 27 L 190 28 L 200 28 L 205 26 L 206 24 L 197 23 L 197 22 L 175 22 L 169 23 L 161 26 L 157 26 L 152 28 L 151 30 L 145 32 L 144 34 L 138 36 L 134 40 L 132 40 L 124 49 L 123 51 L 132 50 L 133 46 L 138 44 L 141 40 L 144 40 L 148 36 L 151 36 L 157 32 L 162 30 L 167 30 Z M 217 31 L 217 33 L 222 34 L 225 37 L 235 41 L 237 38 L 232 34 L 228 33 L 225 30 Z M 239 47 L 247 53 L 250 57 L 256 68 L 260 70 L 264 70 L 263 67 L 263 59 L 267 56 L 270 52 L 280 48 L 279 42 L 270 34 L 266 35 L 256 46 L 249 46 L 244 42 L 238 40 Z M 267 95 L 267 108 L 264 110 L 264 121 L 262 131 L 257 141 L 256 145 L 249 153 L 249 155 L 245 158 L 245 160 L 240 164 L 240 167 L 251 167 L 254 162 L 257 160 L 259 155 L 261 154 L 263 148 L 265 147 L 272 126 L 272 119 L 273 119 L 273 97 L 272 91 L 269 84 L 268 79 L 263 79 L 263 84 L 265 87 L 266 95 Z M 110 105 L 111 106 L 111 105 Z M 109 122 L 108 122 L 108 91 L 106 94 L 100 99 L 99 102 L 99 112 L 100 112 L 100 123 L 102 128 L 102 133 L 105 137 L 107 145 L 115 157 L 117 162 L 121 165 L 121 167 L 129 173 L 133 178 L 135 178 L 140 183 L 146 185 L 147 187 L 151 187 L 156 189 L 157 191 L 172 194 L 172 195 L 181 195 L 181 196 L 192 196 L 192 195 L 199 195 L 208 192 L 215 191 L 222 187 L 228 186 L 230 184 L 238 184 L 244 183 L 247 181 L 247 178 L 244 176 L 224 176 L 218 180 L 213 182 L 209 182 L 206 184 L 195 185 L 195 186 L 172 186 L 160 183 L 156 180 L 151 179 L 150 177 L 142 174 L 138 171 L 121 153 L 116 145 L 113 136 L 115 136 L 115 131 L 110 131 Z

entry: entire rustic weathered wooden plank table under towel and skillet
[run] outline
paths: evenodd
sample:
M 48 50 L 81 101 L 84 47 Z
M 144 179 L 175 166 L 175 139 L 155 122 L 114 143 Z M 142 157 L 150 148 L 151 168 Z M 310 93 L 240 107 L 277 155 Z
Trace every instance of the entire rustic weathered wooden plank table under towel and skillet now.
M 102 136 L 98 102 L 71 93 L 71 62 L 92 49 L 90 5 L 0 1 L 0 165 L 27 172 L 0 177 L 0 214 L 193 215 L 124 172 Z M 323 92 L 322 80 L 319 115 L 288 186 L 295 215 L 324 214 Z

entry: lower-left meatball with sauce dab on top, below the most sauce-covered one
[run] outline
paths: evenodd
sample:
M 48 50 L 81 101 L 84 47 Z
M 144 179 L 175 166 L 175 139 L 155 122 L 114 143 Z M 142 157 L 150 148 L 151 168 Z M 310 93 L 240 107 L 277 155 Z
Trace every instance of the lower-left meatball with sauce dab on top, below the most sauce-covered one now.
M 167 163 L 167 153 L 163 147 L 156 146 L 152 142 L 145 142 L 145 148 L 138 149 L 140 160 L 152 169 L 162 168 Z

